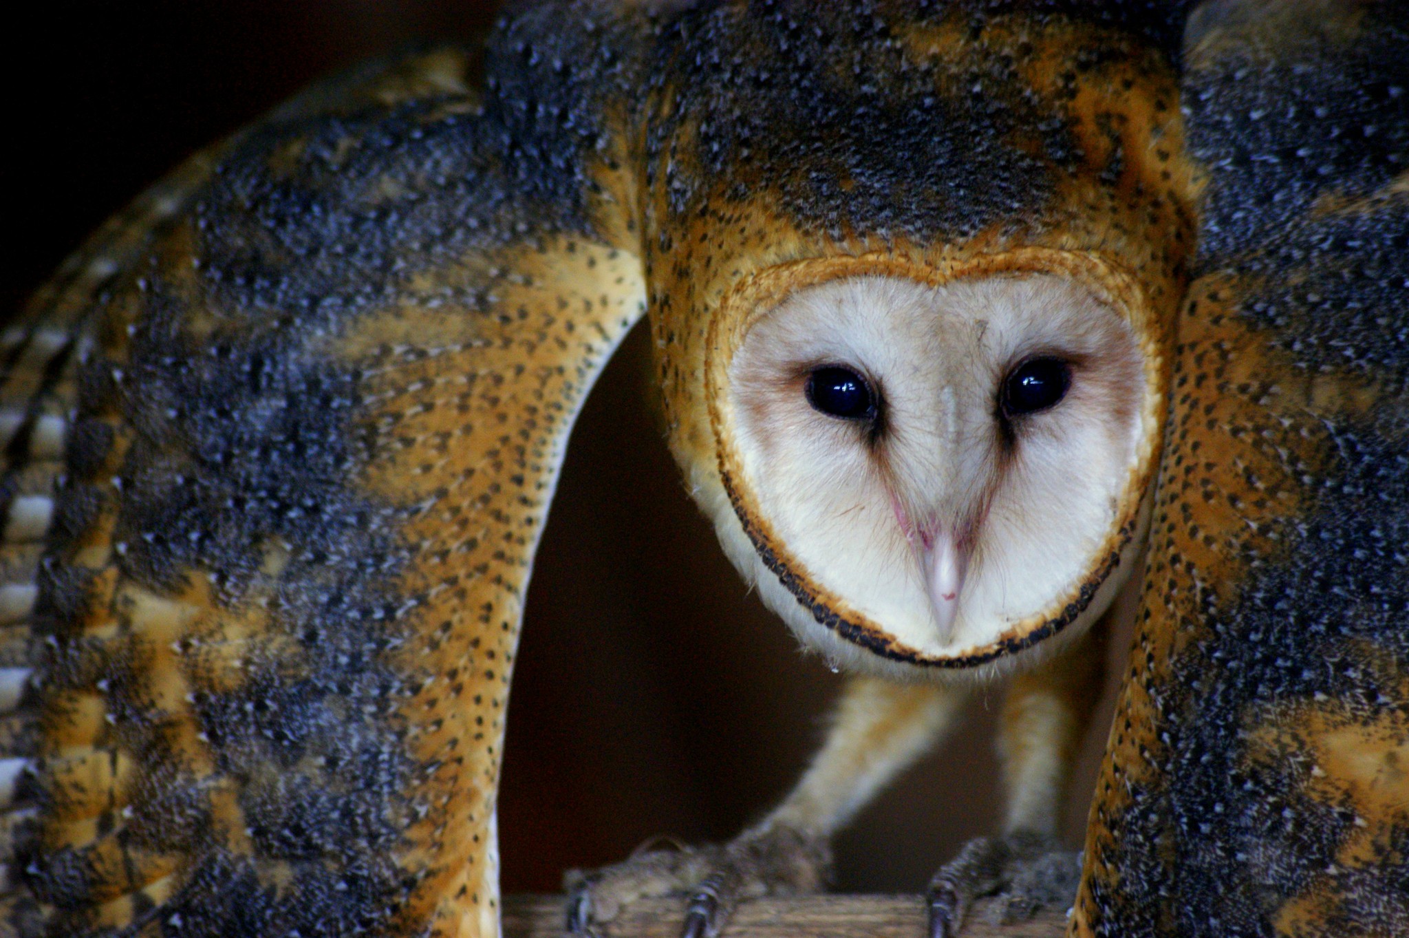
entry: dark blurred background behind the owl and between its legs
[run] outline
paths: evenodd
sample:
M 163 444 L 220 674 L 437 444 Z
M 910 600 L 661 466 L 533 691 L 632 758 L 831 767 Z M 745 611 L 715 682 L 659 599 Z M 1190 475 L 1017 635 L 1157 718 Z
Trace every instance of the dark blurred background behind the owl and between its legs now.
M 14 310 L 80 238 L 193 149 L 306 82 L 426 37 L 471 38 L 476 0 L 27 4 L 4 99 Z M 802 772 L 840 677 L 745 593 L 645 403 L 637 330 L 586 404 L 528 592 L 500 797 L 507 892 L 669 834 L 726 839 Z M 1116 639 L 1123 661 L 1129 637 Z M 1116 665 L 1112 670 L 1120 670 Z M 1067 817 L 1079 842 L 1113 679 Z M 837 842 L 838 884 L 917 892 L 996 823 L 992 713 Z

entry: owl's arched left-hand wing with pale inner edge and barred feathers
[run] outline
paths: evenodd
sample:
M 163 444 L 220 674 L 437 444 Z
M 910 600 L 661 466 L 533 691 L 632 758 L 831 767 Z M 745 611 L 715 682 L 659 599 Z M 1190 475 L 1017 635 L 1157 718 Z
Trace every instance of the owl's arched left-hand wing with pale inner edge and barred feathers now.
M 645 28 L 316 87 L 4 331 L 0 931 L 497 931 L 524 589 L 644 308 Z

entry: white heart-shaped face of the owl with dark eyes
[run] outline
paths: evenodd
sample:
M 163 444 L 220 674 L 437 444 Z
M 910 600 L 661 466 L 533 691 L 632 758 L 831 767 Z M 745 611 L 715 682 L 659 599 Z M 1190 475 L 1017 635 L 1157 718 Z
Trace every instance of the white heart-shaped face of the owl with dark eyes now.
M 716 523 L 805 639 L 862 669 L 982 665 L 1109 604 L 1162 382 L 1099 280 L 875 270 L 757 297 L 710 369 Z

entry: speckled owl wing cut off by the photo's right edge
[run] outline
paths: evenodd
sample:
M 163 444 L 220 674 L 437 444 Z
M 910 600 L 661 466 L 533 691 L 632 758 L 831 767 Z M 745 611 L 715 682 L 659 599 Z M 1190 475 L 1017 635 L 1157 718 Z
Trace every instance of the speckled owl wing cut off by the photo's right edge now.
M 1205 15 L 1200 277 L 1072 934 L 1405 935 L 1409 4 Z

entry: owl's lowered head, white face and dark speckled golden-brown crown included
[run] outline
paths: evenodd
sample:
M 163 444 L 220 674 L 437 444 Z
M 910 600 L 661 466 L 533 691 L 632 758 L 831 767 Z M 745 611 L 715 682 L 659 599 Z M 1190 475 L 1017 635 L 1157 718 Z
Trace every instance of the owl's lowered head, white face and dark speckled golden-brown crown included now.
M 672 448 L 734 565 L 838 665 L 1050 654 L 1138 555 L 1193 185 L 1136 7 L 820 15 L 826 56 L 714 11 L 700 35 L 758 55 L 654 89 Z

